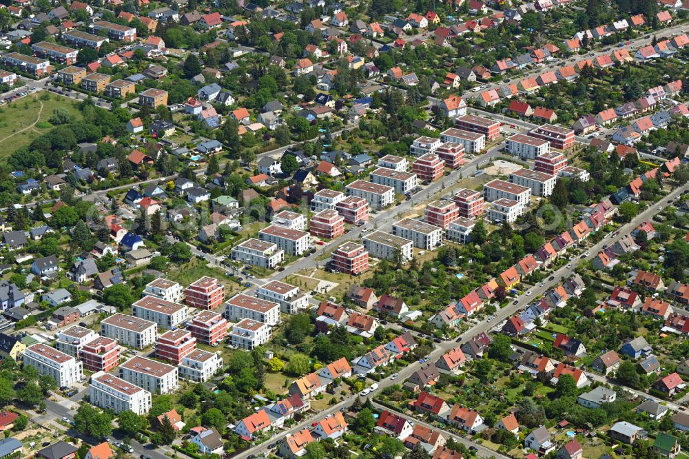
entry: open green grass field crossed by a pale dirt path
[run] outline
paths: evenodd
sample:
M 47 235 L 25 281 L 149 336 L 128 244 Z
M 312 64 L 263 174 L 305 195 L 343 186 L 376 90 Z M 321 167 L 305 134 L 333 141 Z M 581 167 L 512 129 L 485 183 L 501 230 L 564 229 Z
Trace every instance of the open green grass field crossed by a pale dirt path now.
M 72 99 L 50 94 L 50 99 L 43 101 L 39 98 L 41 94 L 43 92 L 30 94 L 0 106 L 0 142 L 11 145 L 0 151 L 0 157 L 10 156 L 14 150 L 25 147 L 38 136 L 50 132 L 52 126 L 45 124 L 48 127 L 39 128 L 36 123 L 48 123 L 55 108 L 65 108 L 75 119 L 81 118 L 81 112 Z

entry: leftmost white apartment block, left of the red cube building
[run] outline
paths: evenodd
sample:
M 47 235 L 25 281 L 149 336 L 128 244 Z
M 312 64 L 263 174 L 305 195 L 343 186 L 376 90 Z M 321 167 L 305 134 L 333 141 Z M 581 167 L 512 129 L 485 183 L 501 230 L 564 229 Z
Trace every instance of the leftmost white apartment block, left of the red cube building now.
M 84 377 L 81 360 L 44 344 L 27 347 L 23 362 L 37 369 L 39 374 L 53 378 L 57 387 L 72 385 Z

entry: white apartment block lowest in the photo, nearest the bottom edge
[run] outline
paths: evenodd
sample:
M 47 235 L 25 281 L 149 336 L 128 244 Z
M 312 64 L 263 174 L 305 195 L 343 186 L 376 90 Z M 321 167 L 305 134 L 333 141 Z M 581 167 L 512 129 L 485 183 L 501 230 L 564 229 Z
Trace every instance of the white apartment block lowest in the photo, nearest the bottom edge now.
M 151 409 L 152 397 L 141 387 L 99 371 L 91 376 L 89 402 L 102 409 L 112 409 L 115 414 L 129 410 L 144 415 Z

